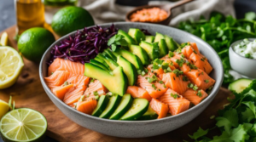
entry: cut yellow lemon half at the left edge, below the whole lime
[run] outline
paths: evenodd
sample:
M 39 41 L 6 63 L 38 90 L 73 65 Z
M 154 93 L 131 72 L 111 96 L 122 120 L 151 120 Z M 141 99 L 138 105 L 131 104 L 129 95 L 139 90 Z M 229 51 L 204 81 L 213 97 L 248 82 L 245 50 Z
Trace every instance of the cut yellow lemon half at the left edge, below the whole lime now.
M 23 60 L 14 48 L 0 46 L 0 89 L 13 85 L 23 66 Z

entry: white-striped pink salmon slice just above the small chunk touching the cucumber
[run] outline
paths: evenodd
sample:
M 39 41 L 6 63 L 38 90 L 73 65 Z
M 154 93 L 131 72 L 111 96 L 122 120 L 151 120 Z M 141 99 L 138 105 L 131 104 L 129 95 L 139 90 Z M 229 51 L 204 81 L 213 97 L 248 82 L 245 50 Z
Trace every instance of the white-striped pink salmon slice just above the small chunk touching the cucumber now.
M 73 88 L 67 91 L 64 96 L 64 103 L 67 105 L 72 105 L 79 101 L 79 98 L 84 94 L 85 89 L 90 81 L 90 77 L 85 77 L 84 75 L 73 75 L 67 79 L 68 83 L 73 83 Z

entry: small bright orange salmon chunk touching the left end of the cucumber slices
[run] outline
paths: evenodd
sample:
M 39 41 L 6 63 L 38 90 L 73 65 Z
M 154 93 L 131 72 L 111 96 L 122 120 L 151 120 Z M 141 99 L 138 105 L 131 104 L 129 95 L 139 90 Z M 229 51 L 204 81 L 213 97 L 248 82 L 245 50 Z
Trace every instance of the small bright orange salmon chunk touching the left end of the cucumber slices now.
M 91 115 L 96 108 L 96 105 L 96 99 L 85 99 L 84 101 L 79 101 L 77 103 L 77 110 Z

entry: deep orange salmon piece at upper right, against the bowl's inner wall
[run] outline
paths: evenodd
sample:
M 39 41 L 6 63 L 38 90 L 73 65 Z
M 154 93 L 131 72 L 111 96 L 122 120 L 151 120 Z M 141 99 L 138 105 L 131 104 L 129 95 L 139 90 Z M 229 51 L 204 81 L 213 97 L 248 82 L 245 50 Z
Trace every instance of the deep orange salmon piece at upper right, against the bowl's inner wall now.
M 202 57 L 199 54 L 192 53 L 189 57 L 189 60 L 191 60 L 191 62 L 196 67 L 198 67 L 202 71 L 207 72 L 207 74 L 209 74 L 212 71 L 212 65 L 209 64 L 209 62 L 207 61 L 207 58 Z

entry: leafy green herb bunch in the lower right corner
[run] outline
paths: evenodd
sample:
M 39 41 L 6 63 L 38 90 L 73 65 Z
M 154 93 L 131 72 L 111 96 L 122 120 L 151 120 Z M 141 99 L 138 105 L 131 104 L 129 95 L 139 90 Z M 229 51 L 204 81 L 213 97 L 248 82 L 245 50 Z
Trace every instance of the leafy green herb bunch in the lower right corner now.
M 256 141 L 256 80 L 240 94 L 234 92 L 235 99 L 218 112 L 216 128 L 221 135 L 207 137 L 211 129 L 199 128 L 189 135 L 195 142 L 255 142 Z M 212 128 L 213 129 L 213 128 Z

